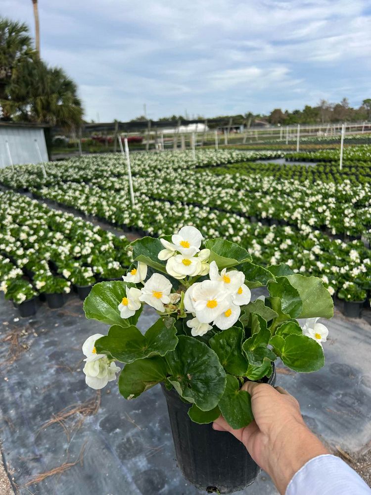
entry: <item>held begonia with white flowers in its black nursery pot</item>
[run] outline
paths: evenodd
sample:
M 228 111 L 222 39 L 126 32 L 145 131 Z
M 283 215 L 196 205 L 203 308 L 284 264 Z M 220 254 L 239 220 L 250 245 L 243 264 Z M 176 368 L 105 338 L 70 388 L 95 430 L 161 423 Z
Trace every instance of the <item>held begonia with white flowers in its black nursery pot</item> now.
M 202 245 L 203 244 L 203 245 Z M 333 315 L 329 292 L 317 277 L 288 265 L 264 268 L 242 247 L 208 239 L 192 226 L 162 239 L 134 241 L 134 264 L 123 281 L 96 284 L 84 302 L 87 318 L 110 325 L 83 346 L 89 386 L 114 380 L 135 399 L 162 384 L 183 475 L 209 493 L 232 493 L 251 484 L 258 466 L 232 435 L 215 432 L 220 414 L 233 428 L 253 420 L 246 380 L 274 384 L 275 360 L 309 373 L 325 362 Z M 269 297 L 251 301 L 266 286 Z M 144 335 L 136 326 L 144 304 L 158 313 Z M 306 318 L 303 327 L 297 318 Z

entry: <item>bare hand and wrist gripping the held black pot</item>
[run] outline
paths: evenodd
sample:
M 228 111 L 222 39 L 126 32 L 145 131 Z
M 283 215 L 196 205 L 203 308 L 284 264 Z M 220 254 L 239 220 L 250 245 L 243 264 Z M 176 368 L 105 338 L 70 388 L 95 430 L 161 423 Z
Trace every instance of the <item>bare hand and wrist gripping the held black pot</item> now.
M 246 382 L 242 390 L 251 395 L 255 420 L 233 430 L 220 416 L 213 428 L 228 431 L 242 442 L 283 495 L 291 478 L 307 461 L 329 452 L 305 425 L 299 402 L 282 387 Z

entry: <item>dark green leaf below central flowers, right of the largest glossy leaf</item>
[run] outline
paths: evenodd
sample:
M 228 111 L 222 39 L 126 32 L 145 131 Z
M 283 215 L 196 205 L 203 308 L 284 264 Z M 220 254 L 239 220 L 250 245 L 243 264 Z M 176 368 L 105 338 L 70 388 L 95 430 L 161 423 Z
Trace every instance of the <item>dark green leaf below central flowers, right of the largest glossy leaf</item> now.
M 224 369 L 232 375 L 244 376 L 249 365 L 242 353 L 243 337 L 244 331 L 241 328 L 231 327 L 217 333 L 209 341 Z

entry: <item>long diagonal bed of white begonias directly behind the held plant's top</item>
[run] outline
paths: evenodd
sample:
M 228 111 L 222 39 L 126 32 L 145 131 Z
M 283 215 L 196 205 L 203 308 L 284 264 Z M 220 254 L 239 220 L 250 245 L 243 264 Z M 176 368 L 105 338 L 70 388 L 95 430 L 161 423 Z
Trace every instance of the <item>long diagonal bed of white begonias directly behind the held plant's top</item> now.
M 232 212 L 156 200 L 143 194 L 136 194 L 137 206 L 132 208 L 126 191 L 112 192 L 96 186 L 62 185 L 44 188 L 40 193 L 88 215 L 151 235 L 166 235 L 181 222 L 193 223 L 204 236 L 229 237 L 241 243 L 259 263 L 277 264 L 284 259 L 294 273 L 323 278 L 333 297 L 345 282 L 356 281 L 361 289 L 370 289 L 371 251 L 361 241 L 331 240 L 308 225 L 295 229 L 261 222 L 252 224 L 249 218 Z M 354 292 L 346 291 L 347 300 L 357 297 Z

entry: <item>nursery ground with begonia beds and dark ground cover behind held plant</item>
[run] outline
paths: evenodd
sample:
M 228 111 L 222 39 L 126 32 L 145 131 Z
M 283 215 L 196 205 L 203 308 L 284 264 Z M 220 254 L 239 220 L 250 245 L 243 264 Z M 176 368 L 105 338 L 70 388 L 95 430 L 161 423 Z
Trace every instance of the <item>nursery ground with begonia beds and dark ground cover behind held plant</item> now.
M 132 270 L 130 241 L 184 225 L 249 252 L 251 300 L 268 295 L 260 265 L 322 279 L 335 301 L 325 366 L 278 363 L 277 384 L 370 482 L 371 146 L 338 162 L 337 149 L 132 153 L 134 205 L 118 154 L 0 170 L 0 437 L 15 494 L 204 493 L 177 468 L 159 386 L 127 401 L 82 373 L 84 340 L 107 325 L 81 300 Z M 147 306 L 139 330 L 155 319 Z M 238 493 L 278 494 L 264 472 Z

